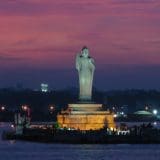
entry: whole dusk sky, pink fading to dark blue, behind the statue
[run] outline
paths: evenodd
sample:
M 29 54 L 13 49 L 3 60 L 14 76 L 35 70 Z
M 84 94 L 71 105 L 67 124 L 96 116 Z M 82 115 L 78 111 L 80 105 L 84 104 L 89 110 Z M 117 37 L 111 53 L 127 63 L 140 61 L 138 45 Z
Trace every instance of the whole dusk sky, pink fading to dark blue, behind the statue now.
M 96 88 L 159 89 L 160 1 L 0 0 L 0 88 L 78 87 L 84 45 Z

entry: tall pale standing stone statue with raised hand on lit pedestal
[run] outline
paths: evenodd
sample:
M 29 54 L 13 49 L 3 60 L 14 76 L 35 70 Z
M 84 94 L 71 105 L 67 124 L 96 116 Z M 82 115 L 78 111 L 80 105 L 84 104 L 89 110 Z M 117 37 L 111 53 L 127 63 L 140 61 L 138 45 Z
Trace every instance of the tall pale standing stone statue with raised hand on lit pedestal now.
M 90 101 L 92 99 L 92 83 L 95 64 L 93 58 L 89 56 L 87 47 L 83 47 L 81 53 L 77 54 L 76 69 L 79 74 L 79 100 Z

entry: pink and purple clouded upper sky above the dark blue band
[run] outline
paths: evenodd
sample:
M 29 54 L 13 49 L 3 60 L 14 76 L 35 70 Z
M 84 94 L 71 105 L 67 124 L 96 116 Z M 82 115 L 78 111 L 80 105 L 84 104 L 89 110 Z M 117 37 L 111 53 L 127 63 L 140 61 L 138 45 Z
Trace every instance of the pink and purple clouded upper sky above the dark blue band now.
M 160 64 L 158 6 L 158 0 L 1 1 L 0 53 L 26 59 L 12 62 L 17 66 L 72 67 L 88 45 L 99 65 Z

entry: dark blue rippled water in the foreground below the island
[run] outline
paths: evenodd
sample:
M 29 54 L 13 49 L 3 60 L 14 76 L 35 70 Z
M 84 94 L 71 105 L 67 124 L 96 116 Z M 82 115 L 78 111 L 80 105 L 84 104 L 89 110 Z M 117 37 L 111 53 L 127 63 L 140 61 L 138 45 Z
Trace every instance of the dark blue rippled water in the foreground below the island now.
M 6 128 L 1 124 L 0 132 Z M 160 160 L 160 145 L 68 145 L 0 140 L 0 160 Z

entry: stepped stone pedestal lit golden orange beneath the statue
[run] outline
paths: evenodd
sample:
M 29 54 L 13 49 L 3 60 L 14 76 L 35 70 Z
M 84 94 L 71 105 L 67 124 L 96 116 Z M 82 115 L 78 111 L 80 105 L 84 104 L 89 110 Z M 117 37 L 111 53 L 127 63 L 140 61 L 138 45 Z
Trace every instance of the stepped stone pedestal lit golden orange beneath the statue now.
M 103 127 L 115 128 L 113 115 L 103 111 L 102 104 L 69 104 L 66 111 L 57 116 L 62 128 L 98 130 Z

